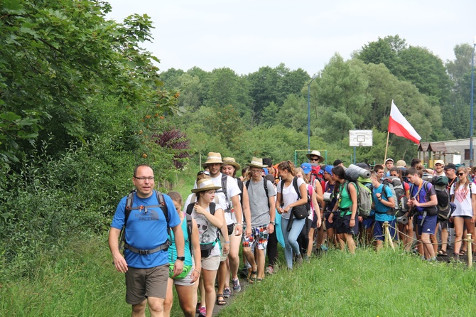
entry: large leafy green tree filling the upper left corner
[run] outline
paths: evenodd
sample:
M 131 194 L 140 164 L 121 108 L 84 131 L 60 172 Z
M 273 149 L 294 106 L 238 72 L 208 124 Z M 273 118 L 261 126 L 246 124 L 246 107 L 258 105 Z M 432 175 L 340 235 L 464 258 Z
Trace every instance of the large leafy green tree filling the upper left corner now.
M 97 107 L 94 97 L 177 111 L 168 103 L 175 93 L 160 88 L 152 63 L 158 59 L 139 47 L 151 41 L 150 19 L 132 15 L 116 23 L 104 18 L 110 9 L 90 0 L 0 3 L 0 112 L 9 114 L 0 119 L 4 162 L 18 162 L 35 141 L 53 137 L 53 155 L 86 141 L 84 119 Z

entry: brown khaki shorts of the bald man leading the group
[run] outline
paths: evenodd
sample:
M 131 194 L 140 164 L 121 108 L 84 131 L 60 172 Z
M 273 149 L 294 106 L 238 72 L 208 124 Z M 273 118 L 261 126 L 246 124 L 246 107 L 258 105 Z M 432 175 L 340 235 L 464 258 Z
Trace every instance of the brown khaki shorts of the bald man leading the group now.
M 126 272 L 126 303 L 137 305 L 147 297 L 166 299 L 168 263 L 150 269 L 129 267 Z

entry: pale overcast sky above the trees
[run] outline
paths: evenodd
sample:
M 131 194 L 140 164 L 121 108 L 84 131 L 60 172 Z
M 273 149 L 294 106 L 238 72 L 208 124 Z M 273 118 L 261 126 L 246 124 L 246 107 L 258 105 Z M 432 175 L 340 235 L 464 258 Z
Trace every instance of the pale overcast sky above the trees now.
M 473 43 L 475 0 L 109 0 L 108 18 L 148 14 L 153 43 L 144 48 L 161 60 L 161 71 L 197 66 L 249 74 L 285 63 L 309 75 L 332 55 L 353 51 L 379 37 L 398 34 L 443 62 L 453 48 Z

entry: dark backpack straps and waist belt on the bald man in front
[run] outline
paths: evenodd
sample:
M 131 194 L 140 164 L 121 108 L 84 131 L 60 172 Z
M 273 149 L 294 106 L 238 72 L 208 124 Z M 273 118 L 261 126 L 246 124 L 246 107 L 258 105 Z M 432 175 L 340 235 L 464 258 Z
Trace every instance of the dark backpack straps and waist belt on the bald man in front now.
M 136 193 L 136 190 L 132 190 L 129 193 L 129 195 L 127 195 L 126 208 L 124 210 L 124 215 L 125 215 L 125 217 L 124 217 L 124 226 L 122 226 L 121 233 L 119 234 L 119 251 L 125 251 L 125 249 L 129 249 L 129 251 L 134 252 L 134 253 L 152 254 L 152 253 L 155 253 L 155 252 L 159 252 L 163 249 L 168 249 L 168 247 L 171 245 L 170 240 L 167 240 L 165 243 L 163 243 L 162 245 L 159 245 L 155 249 L 139 250 L 139 249 L 136 249 L 135 247 L 131 247 L 129 244 L 126 243 L 126 225 L 127 225 L 127 220 L 129 219 L 129 215 L 131 214 L 132 210 L 137 210 L 137 209 L 147 210 L 147 208 L 157 208 L 157 207 L 161 208 L 162 212 L 163 212 L 163 215 L 166 217 L 167 230 L 168 230 L 168 232 L 170 232 L 169 230 L 171 228 L 168 227 L 168 208 L 167 208 L 166 200 L 163 198 L 163 193 L 161 193 L 158 190 L 154 190 L 154 191 L 156 192 L 156 195 L 157 195 L 158 205 L 148 205 L 148 206 L 140 205 L 140 206 L 137 206 L 137 207 L 132 207 L 132 205 L 134 203 L 134 194 Z

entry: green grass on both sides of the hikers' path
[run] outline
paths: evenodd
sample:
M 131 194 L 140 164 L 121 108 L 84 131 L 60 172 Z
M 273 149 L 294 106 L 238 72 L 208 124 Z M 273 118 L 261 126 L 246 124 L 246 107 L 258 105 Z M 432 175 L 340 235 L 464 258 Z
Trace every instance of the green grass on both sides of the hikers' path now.
M 125 292 L 124 275 L 97 237 L 44 258 L 32 279 L 1 282 L 0 316 L 130 316 Z M 475 297 L 476 271 L 464 264 L 330 250 L 248 286 L 220 316 L 475 316 Z M 182 316 L 174 302 L 172 316 Z

